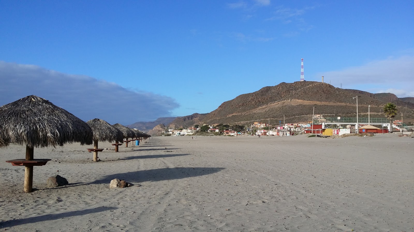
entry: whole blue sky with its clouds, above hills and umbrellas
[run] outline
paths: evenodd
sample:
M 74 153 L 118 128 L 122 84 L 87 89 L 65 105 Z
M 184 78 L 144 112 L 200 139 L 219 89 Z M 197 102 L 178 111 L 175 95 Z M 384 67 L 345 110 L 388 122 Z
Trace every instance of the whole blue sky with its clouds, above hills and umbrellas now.
M 305 80 L 414 96 L 413 1 L 0 1 L 0 105 L 111 124 Z

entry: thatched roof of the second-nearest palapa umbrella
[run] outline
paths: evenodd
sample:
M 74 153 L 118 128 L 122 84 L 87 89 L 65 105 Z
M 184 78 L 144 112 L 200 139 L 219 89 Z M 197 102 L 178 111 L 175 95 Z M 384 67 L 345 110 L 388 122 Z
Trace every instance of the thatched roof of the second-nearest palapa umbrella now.
M 86 122 L 94 133 L 94 141 L 122 141 L 123 133 L 113 125 L 107 123 L 106 121 L 95 118 Z

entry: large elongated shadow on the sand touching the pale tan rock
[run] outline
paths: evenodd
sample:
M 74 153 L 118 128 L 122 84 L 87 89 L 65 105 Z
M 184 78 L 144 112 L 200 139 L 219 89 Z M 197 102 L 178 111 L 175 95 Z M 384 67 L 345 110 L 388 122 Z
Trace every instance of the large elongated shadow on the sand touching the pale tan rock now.
M 100 180 L 95 180 L 89 184 L 109 184 L 113 179 L 125 180 L 132 183 L 140 183 L 144 181 L 160 181 L 160 180 L 176 180 L 201 175 L 209 175 L 217 173 L 224 168 L 211 167 L 195 167 L 195 168 L 159 168 L 151 170 L 140 170 L 129 173 L 117 173 L 106 175 Z

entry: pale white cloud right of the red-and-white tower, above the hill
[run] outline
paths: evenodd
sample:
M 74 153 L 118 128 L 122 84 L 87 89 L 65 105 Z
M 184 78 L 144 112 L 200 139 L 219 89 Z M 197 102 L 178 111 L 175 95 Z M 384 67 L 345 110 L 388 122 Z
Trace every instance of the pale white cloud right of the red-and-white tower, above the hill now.
M 340 71 L 318 73 L 332 85 L 339 87 L 343 83 L 346 88 L 365 86 L 368 92 L 391 92 L 398 97 L 414 95 L 414 56 L 390 57 L 385 60 L 349 67 Z M 362 90 L 362 89 L 361 89 Z

